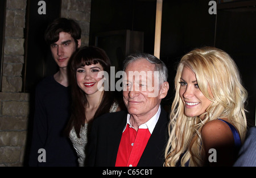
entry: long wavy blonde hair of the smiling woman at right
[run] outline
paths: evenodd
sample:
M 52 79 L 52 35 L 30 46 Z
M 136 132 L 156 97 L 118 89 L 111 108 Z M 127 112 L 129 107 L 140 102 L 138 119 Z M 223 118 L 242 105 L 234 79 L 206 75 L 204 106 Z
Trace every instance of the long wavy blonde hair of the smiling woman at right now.
M 187 117 L 184 114 L 184 104 L 179 96 L 179 81 L 185 66 L 196 74 L 201 92 L 212 101 L 204 113 L 203 120 L 200 119 L 200 116 Z M 210 97 L 208 88 L 210 88 L 213 98 Z M 205 123 L 214 119 L 229 118 L 230 123 L 240 133 L 243 142 L 247 127 L 245 115 L 247 91 L 242 86 L 237 65 L 228 53 L 221 49 L 204 47 L 184 55 L 177 67 L 175 90 L 164 166 L 175 166 L 181 155 L 181 166 L 188 161 L 189 166 L 203 166 L 205 151 L 201 147 L 201 129 Z

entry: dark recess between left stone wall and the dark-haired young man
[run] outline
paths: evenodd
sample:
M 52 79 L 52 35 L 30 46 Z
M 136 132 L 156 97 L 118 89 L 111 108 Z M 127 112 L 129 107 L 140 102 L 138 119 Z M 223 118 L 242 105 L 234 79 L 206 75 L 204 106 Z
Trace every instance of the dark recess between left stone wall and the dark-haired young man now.
M 56 73 L 58 66 L 44 40 L 49 23 L 60 16 L 61 0 L 46 0 L 46 14 L 38 14 L 38 1 L 27 1 L 25 34 L 25 65 L 23 67 L 23 92 L 34 92 L 42 78 Z

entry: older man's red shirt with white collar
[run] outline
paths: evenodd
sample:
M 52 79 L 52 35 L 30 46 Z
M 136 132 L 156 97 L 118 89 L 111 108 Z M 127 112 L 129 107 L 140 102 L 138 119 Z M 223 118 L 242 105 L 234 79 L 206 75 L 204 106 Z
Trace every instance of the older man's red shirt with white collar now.
M 130 114 L 127 115 L 127 124 L 122 134 L 115 161 L 116 167 L 137 166 L 158 121 L 160 110 L 159 106 L 158 112 L 146 123 L 139 126 L 138 131 L 130 125 Z

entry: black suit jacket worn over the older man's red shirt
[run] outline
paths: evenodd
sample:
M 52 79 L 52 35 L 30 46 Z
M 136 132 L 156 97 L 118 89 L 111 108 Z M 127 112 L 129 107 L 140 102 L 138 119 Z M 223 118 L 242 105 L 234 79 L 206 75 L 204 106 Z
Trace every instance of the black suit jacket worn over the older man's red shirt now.
M 94 119 L 88 143 L 88 166 L 115 166 L 119 143 L 127 120 L 127 111 L 104 114 Z M 168 132 L 168 115 L 161 113 L 137 166 L 162 167 Z

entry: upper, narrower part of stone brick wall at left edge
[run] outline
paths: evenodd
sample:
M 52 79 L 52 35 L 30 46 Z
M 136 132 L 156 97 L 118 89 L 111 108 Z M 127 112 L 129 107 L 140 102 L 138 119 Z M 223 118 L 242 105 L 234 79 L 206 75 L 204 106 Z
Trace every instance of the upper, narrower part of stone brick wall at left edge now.
M 7 0 L 2 92 L 22 90 L 26 0 Z

